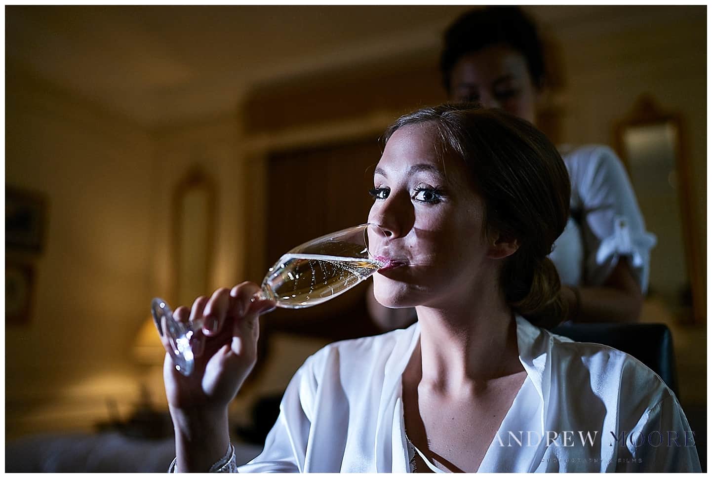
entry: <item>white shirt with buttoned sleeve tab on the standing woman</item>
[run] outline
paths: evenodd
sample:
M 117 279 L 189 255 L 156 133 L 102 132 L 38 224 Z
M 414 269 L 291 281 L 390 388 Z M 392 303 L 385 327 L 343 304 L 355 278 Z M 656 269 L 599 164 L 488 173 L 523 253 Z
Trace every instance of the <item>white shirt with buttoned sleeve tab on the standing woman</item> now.
M 621 161 L 602 145 L 560 150 L 571 180 L 571 212 L 549 257 L 562 284 L 600 286 L 626 256 L 645 292 L 656 238 L 645 230 Z

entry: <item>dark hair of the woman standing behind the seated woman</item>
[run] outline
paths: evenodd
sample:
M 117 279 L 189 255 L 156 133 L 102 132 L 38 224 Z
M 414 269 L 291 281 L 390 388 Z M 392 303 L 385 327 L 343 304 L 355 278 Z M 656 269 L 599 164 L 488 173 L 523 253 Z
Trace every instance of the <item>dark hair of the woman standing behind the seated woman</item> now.
M 498 44 L 522 54 L 532 83 L 541 88 L 545 78 L 544 48 L 534 22 L 517 6 L 491 6 L 466 12 L 445 32 L 440 56 L 445 90 L 451 93 L 452 70 L 460 58 Z

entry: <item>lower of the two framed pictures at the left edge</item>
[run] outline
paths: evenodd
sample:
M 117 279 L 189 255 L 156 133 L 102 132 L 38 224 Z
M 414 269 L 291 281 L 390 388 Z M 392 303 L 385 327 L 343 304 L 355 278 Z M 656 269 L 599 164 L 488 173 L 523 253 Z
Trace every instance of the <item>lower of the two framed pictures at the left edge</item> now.
M 6 260 L 6 325 L 25 325 L 30 322 L 30 307 L 32 304 L 34 278 L 34 268 L 31 264 Z

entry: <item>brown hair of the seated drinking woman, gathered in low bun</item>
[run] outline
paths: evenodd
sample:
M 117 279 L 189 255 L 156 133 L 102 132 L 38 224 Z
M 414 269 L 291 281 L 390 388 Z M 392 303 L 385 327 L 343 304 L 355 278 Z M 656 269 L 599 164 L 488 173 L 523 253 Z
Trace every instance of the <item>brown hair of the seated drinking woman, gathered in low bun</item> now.
M 571 185 L 559 152 L 528 121 L 468 103 L 404 115 L 384 141 L 399 128 L 422 123 L 436 127 L 440 154 L 466 162 L 485 202 L 485 232 L 519 241 L 500 277 L 509 306 L 537 326 L 560 323 L 567 311 L 559 275 L 547 257 L 569 216 Z

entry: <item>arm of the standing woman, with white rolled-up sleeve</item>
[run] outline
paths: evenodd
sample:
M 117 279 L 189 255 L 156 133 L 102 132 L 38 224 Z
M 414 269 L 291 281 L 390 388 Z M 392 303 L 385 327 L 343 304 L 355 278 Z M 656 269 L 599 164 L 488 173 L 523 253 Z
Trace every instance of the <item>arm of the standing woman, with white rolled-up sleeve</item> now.
M 563 291 L 569 319 L 638 321 L 656 239 L 646 231 L 627 173 L 610 148 L 582 148 L 574 162 L 572 194 L 580 202 L 586 260 L 577 293 L 573 287 Z

